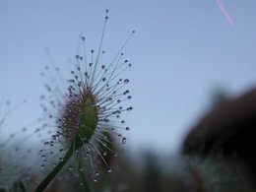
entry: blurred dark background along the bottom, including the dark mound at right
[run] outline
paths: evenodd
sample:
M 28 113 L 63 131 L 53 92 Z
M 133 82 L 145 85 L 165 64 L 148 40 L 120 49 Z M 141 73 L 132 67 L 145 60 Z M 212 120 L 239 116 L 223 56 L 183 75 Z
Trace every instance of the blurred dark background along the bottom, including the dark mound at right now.
M 192 127 L 179 155 L 160 156 L 151 150 L 128 154 L 118 148 L 117 158 L 106 159 L 112 172 L 100 159 L 96 159 L 101 167 L 97 182 L 90 171 L 85 172 L 91 191 L 255 192 L 256 89 L 235 98 L 224 93 L 213 95 L 212 109 Z M 0 186 L 0 191 L 32 191 L 38 177 L 22 174 L 10 190 Z M 65 169 L 45 191 L 86 190 L 80 175 Z

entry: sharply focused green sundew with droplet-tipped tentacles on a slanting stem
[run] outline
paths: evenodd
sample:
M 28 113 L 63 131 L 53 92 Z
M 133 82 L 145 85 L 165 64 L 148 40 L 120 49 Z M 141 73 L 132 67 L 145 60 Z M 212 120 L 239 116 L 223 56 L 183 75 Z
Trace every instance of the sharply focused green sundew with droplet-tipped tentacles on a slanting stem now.
M 103 169 L 112 171 L 109 156 L 117 157 L 112 146 L 126 143 L 126 125 L 123 113 L 133 109 L 128 105 L 132 98 L 127 89 L 129 79 L 123 72 L 131 67 L 124 58 L 123 48 L 134 32 L 128 36 L 110 63 L 104 63 L 103 39 L 108 21 L 104 18 L 103 30 L 96 50 L 87 49 L 87 39 L 80 36 L 81 50 L 75 55 L 71 78 L 65 80 L 55 65 L 45 67 L 42 76 L 51 80 L 45 84 L 46 94 L 41 96 L 42 128 L 48 130 L 50 139 L 43 141 L 39 151 L 41 168 L 51 169 L 35 191 L 43 191 L 58 173 L 66 168 L 78 177 L 85 190 L 90 191 L 86 174 L 95 182 Z M 67 82 L 67 84 L 66 84 Z M 65 87 L 66 89 L 62 89 Z M 113 139 L 116 138 L 116 139 Z M 107 158 L 106 158 L 107 157 Z

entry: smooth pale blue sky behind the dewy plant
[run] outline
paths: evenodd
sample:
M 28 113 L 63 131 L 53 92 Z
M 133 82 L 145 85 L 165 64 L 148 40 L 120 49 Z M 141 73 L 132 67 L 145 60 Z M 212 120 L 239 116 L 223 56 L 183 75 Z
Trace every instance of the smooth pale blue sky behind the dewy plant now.
M 8 123 L 19 128 L 40 115 L 39 73 L 49 64 L 43 48 L 62 70 L 70 69 L 79 33 L 89 48 L 98 46 L 107 8 L 110 55 L 136 30 L 125 48 L 135 108 L 127 117 L 127 146 L 177 151 L 216 86 L 238 95 L 256 83 L 256 1 L 223 3 L 234 26 L 216 0 L 1 0 L 0 94 L 13 103 L 28 99 Z

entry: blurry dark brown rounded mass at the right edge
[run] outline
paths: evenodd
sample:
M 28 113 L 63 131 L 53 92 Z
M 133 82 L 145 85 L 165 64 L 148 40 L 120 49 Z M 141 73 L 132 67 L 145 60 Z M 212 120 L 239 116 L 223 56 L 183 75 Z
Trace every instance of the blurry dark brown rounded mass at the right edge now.
M 239 162 L 256 182 L 256 89 L 231 99 L 222 97 L 224 100 L 192 128 L 182 153 Z

